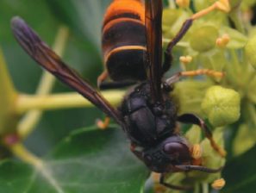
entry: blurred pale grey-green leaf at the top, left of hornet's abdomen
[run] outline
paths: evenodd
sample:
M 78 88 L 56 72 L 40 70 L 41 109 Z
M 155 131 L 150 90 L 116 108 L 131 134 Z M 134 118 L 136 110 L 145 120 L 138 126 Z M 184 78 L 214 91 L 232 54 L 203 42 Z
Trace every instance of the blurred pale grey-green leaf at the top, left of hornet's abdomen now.
M 46 2 L 60 22 L 64 22 L 79 36 L 89 38 L 94 45 L 100 46 L 103 13 L 110 0 L 47 0 Z

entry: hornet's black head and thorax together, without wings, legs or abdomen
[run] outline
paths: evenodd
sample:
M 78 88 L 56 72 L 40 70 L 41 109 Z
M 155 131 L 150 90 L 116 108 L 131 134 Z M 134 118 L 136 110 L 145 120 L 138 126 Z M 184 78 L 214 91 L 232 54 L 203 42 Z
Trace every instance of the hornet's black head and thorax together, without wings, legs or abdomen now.
M 172 165 L 191 161 L 190 146 L 179 135 L 177 107 L 169 94 L 163 90 L 163 103 L 156 106 L 150 84 L 143 82 L 134 86 L 121 106 L 134 154 L 155 172 L 172 171 Z

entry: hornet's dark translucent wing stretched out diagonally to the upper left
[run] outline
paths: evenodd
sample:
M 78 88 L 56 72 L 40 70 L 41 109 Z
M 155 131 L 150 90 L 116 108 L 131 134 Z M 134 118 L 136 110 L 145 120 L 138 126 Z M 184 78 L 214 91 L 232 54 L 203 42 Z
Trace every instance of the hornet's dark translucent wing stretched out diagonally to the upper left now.
M 48 72 L 51 72 L 55 77 L 59 78 L 59 80 L 69 85 L 72 89 L 77 90 L 78 93 L 95 104 L 97 108 L 102 109 L 105 114 L 113 117 L 116 122 L 122 125 L 122 116 L 119 111 L 112 107 L 97 90 L 70 69 L 59 56 L 28 27 L 26 22 L 19 17 L 15 17 L 11 21 L 11 27 L 16 36 L 16 40 L 18 40 L 24 50 L 38 64 Z

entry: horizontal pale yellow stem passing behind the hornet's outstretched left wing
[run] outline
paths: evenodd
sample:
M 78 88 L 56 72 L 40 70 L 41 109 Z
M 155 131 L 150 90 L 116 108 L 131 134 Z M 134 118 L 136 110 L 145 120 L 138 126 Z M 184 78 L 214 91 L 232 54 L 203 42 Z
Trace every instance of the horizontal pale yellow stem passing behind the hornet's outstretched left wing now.
M 113 105 L 117 105 L 122 100 L 124 91 L 103 91 L 103 96 Z M 18 98 L 16 104 L 16 110 L 19 114 L 25 113 L 26 111 L 37 109 L 37 110 L 53 110 L 53 109 L 67 109 L 67 108 L 79 108 L 79 107 L 94 107 L 94 105 L 80 96 L 76 92 L 53 94 L 45 96 L 28 96 L 21 95 Z M 20 134 L 26 135 L 22 133 Z M 26 131 L 25 131 L 26 132 Z

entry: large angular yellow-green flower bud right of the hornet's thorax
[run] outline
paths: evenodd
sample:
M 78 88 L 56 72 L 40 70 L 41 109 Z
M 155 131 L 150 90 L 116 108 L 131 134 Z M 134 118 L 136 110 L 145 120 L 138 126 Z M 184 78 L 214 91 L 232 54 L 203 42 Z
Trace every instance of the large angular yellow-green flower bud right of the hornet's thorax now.
M 240 117 L 240 95 L 231 89 L 212 86 L 206 91 L 201 107 L 214 127 L 225 126 Z

